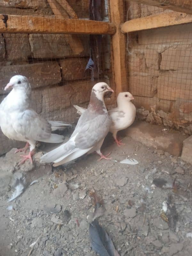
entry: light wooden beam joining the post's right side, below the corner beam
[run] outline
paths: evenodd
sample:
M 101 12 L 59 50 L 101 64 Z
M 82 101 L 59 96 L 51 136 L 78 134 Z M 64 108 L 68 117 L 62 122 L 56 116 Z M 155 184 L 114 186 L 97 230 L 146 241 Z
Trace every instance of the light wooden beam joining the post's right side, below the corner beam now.
M 152 28 L 185 24 L 192 22 L 192 15 L 180 12 L 168 12 L 144 18 L 126 21 L 121 25 L 121 32 L 128 33 Z

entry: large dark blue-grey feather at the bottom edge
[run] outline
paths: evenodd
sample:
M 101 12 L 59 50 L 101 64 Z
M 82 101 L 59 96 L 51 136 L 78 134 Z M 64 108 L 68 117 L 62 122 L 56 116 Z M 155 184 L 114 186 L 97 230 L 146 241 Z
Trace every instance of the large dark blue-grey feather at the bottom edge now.
M 89 225 L 89 236 L 92 249 L 100 256 L 120 256 L 116 251 L 111 238 L 97 220 Z

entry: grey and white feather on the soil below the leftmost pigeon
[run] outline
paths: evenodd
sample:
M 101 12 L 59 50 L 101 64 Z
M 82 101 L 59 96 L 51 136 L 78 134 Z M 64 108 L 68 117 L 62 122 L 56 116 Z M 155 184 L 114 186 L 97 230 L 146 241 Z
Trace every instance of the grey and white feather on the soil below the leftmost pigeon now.
M 25 184 L 26 184 L 25 176 L 20 172 L 15 173 L 13 177 L 13 186 L 12 186 L 15 188 L 15 191 L 12 193 L 12 196 L 8 200 L 8 202 L 13 201 L 15 198 L 17 198 L 23 193 L 23 191 L 25 190 Z

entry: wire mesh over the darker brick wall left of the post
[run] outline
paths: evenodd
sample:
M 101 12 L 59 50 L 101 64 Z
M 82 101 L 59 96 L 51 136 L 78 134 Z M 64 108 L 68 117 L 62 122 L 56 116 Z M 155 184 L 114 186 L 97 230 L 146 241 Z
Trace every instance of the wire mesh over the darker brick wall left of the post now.
M 108 1 L 97 2 L 101 2 L 99 11 L 92 2 L 0 1 L 0 12 L 110 20 Z M 108 35 L 3 33 L 0 43 L 0 103 L 10 78 L 26 76 L 32 88 L 32 108 L 47 120 L 75 122 L 78 115 L 73 104 L 86 107 L 92 86 L 99 81 L 110 84 L 112 79 Z M 106 103 L 114 102 L 108 98 Z M 0 131 L 0 155 L 18 145 Z

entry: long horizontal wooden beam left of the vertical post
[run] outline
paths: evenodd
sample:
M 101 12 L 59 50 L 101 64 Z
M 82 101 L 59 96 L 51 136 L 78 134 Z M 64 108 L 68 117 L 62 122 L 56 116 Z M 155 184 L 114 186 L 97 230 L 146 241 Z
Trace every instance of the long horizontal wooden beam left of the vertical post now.
M 109 34 L 116 32 L 113 23 L 0 14 L 1 33 Z

